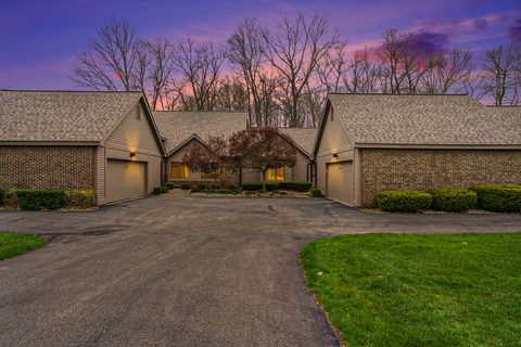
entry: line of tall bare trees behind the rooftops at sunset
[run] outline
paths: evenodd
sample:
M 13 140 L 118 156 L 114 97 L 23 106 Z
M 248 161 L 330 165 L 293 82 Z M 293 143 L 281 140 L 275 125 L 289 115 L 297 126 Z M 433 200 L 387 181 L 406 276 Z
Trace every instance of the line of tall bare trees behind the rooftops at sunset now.
M 350 53 L 328 16 L 245 18 L 225 47 L 190 37 L 144 40 L 126 21 L 99 29 L 71 79 L 94 90 L 141 90 L 153 110 L 247 111 L 256 126 L 316 127 L 327 93 L 469 93 L 520 104 L 521 48 L 429 51 L 414 33 Z

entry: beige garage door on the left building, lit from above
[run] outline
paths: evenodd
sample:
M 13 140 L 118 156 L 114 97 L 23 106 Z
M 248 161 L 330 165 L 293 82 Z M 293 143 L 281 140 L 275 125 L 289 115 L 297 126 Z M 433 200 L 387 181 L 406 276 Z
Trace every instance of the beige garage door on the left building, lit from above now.
M 109 159 L 106 165 L 106 202 L 147 195 L 147 163 Z

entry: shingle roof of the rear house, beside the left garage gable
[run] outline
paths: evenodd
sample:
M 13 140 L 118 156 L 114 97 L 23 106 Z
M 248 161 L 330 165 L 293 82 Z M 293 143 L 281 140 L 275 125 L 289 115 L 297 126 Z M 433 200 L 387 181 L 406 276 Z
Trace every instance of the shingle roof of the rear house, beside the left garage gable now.
M 246 129 L 244 112 L 153 112 L 160 134 L 166 138 L 166 153 L 178 149 L 193 134 L 203 141 L 208 136 L 229 137 Z

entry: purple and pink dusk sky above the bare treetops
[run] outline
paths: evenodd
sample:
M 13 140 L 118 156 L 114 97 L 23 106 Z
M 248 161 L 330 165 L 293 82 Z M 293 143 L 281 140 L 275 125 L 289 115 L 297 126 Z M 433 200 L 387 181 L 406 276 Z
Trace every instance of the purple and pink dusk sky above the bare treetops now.
M 325 13 L 356 51 L 378 46 L 390 28 L 415 31 L 428 49 L 521 43 L 520 0 L 0 0 L 0 89 L 78 89 L 77 57 L 110 18 L 129 21 L 143 38 L 187 36 L 226 43 L 244 17 L 271 25 L 280 14 Z

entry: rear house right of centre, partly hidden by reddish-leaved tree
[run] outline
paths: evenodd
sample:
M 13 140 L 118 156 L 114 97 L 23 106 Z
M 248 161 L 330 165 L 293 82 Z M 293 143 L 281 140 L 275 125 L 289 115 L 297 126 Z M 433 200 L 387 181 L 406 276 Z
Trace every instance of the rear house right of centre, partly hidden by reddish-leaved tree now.
M 313 145 L 317 136 L 315 128 L 277 128 L 280 136 L 295 146 L 296 162 L 292 167 L 269 168 L 266 171 L 268 182 L 313 181 Z M 243 182 L 259 182 L 260 172 L 244 169 Z

